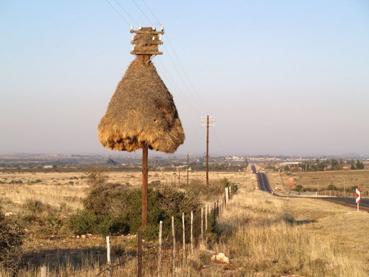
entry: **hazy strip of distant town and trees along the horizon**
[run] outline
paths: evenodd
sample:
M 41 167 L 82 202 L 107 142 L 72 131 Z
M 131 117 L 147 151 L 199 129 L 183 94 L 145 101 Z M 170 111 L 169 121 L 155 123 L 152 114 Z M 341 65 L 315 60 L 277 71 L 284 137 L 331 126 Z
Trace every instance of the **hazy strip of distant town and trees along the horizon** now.
M 126 154 L 126 153 L 125 153 Z M 162 155 L 149 156 L 150 170 L 204 170 L 205 155 Z M 189 164 L 187 164 L 189 162 Z M 140 155 L 100 155 L 100 154 L 1 154 L 1 169 L 23 169 L 23 170 L 89 170 L 93 166 L 105 167 L 106 170 L 117 168 L 121 170 L 141 170 L 142 157 Z M 217 156 L 209 157 L 209 170 L 242 171 L 249 164 L 263 164 L 269 169 L 287 169 L 296 171 L 313 170 L 345 170 L 369 168 L 369 157 L 357 154 L 346 156 Z M 359 165 L 360 168 L 357 168 Z M 308 170 L 309 169 L 309 170 Z

